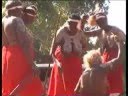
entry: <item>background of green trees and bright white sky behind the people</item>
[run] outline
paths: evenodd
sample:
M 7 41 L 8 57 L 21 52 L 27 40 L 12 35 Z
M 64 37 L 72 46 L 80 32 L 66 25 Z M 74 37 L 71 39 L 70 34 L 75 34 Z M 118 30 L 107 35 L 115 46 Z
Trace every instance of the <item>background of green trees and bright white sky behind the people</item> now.
M 3 8 L 7 0 L 2 0 Z M 104 9 L 108 14 L 108 23 L 119 27 L 126 33 L 126 0 L 21 0 L 24 6 L 34 4 L 38 8 L 37 20 L 29 26 L 34 40 L 35 62 L 48 63 L 50 60 L 49 50 L 55 32 L 64 24 L 72 13 L 79 15 Z M 87 38 L 87 50 L 98 48 L 97 38 Z M 50 60 L 51 61 L 51 60 Z

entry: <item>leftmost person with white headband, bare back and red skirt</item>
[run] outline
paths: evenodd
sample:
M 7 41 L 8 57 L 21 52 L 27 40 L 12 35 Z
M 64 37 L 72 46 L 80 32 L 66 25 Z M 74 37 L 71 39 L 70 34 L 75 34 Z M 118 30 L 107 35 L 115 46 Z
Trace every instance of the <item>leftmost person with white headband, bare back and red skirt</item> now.
M 30 40 L 21 19 L 22 4 L 8 1 L 5 15 L 2 19 L 2 95 L 41 96 L 44 89 L 29 52 Z

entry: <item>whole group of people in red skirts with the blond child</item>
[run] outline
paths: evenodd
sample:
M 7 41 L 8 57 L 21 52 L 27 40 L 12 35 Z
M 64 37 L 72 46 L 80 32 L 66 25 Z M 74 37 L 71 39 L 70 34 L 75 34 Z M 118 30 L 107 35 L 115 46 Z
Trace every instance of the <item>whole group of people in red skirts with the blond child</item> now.
M 123 73 L 126 36 L 108 25 L 103 12 L 72 14 L 57 31 L 51 47 L 54 66 L 48 90 L 33 63 L 32 36 L 27 28 L 37 8 L 7 1 L 2 19 L 2 96 L 109 96 L 124 92 Z M 84 25 L 100 29 L 85 32 Z M 101 47 L 87 51 L 87 37 L 97 36 Z M 82 64 L 85 65 L 84 71 Z

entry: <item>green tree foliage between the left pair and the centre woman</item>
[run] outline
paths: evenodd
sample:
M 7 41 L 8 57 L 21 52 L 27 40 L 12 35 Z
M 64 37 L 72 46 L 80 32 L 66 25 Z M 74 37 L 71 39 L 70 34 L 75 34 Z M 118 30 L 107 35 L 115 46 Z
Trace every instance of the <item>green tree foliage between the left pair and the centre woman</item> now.
M 6 0 L 2 1 L 2 8 Z M 108 10 L 108 2 L 105 0 L 22 0 L 23 5 L 34 4 L 38 8 L 37 20 L 29 26 L 34 40 L 36 60 L 43 59 L 48 55 L 54 34 L 64 24 L 71 13 L 79 15 L 95 9 L 97 3 Z M 107 4 L 107 5 L 103 5 Z M 3 14 L 2 14 L 3 15 Z

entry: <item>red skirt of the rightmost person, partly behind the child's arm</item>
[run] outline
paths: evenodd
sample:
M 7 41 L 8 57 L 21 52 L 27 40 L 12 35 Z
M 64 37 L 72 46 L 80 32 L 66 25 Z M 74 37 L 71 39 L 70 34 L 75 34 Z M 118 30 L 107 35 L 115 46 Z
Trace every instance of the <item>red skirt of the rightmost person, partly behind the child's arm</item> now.
M 118 48 L 111 48 L 103 53 L 104 62 L 117 57 Z M 120 63 L 120 62 L 119 62 Z M 115 70 L 108 73 L 109 93 L 123 92 L 123 64 L 120 64 Z

